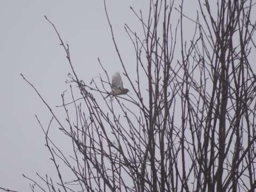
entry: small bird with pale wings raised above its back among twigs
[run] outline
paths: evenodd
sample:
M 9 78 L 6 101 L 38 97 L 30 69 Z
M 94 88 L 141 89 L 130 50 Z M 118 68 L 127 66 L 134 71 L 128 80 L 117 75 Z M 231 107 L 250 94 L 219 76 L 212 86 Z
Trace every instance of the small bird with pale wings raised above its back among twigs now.
M 125 89 L 123 87 L 122 77 L 118 72 L 116 72 L 112 76 L 111 89 L 112 89 L 112 91 L 109 93 L 109 95 L 107 97 L 109 97 L 110 95 L 126 94 L 129 91 L 128 89 Z

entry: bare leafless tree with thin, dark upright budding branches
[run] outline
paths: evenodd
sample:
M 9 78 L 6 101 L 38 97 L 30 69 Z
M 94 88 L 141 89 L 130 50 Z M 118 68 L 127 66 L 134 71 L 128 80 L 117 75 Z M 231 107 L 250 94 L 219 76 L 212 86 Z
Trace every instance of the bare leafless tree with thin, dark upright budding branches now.
M 62 94 L 59 107 L 65 110 L 66 123 L 61 123 L 22 75 L 53 116 L 47 128 L 36 118 L 59 176 L 55 183 L 48 175 L 38 174 L 45 183 L 42 186 L 23 175 L 31 181 L 31 190 L 254 191 L 256 76 L 250 64 L 256 48 L 251 17 L 255 3 L 198 0 L 195 19 L 183 12 L 183 1 L 176 7 L 174 1 L 150 0 L 147 18 L 131 7 L 142 26 L 142 33 L 137 33 L 125 25 L 137 61 L 135 79 L 121 57 L 104 3 L 132 95 L 106 99 L 111 83 L 100 59 L 104 76 L 89 84 L 81 81 L 68 44 L 45 17 L 71 68 L 72 101 L 67 102 Z M 178 19 L 171 17 L 173 12 L 179 14 Z M 185 20 L 194 24 L 189 41 L 184 36 Z M 175 49 L 178 46 L 180 51 Z M 74 91 L 81 97 L 75 97 Z M 71 138 L 73 155 L 65 156 L 50 139 L 52 121 Z M 59 161 L 74 180 L 63 178 Z

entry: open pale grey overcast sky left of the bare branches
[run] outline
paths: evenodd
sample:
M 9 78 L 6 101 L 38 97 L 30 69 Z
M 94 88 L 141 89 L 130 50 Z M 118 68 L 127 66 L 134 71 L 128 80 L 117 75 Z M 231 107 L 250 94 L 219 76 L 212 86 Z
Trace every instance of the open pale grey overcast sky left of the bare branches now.
M 107 1 L 116 40 L 126 63 L 133 63 L 135 57 L 124 31 L 124 23 L 133 29 L 140 29 L 130 5 L 147 10 L 148 1 Z M 196 14 L 193 6 L 191 1 L 185 4 L 191 17 Z M 29 189 L 29 181 L 23 179 L 21 174 L 36 178 L 36 172 L 54 175 L 55 169 L 44 146 L 44 135 L 35 114 L 44 125 L 51 116 L 31 87 L 22 80 L 20 73 L 37 87 L 53 108 L 61 103 L 62 91 L 68 89 L 65 80 L 70 68 L 65 52 L 44 15 L 55 23 L 64 42 L 69 43 L 75 69 L 86 83 L 99 72 L 102 73 L 97 57 L 110 74 L 122 72 L 103 1 L 0 2 L 0 186 L 21 191 Z M 187 29 L 185 32 L 190 33 L 190 27 Z M 132 66 L 127 68 L 132 71 Z M 65 139 L 60 138 L 58 143 L 69 147 Z

